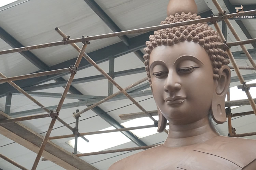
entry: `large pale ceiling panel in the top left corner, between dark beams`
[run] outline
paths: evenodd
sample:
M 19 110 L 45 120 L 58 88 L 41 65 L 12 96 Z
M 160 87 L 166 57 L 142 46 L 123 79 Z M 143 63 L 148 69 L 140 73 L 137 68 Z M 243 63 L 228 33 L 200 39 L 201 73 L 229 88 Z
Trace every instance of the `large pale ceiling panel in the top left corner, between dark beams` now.
M 84 1 L 75 0 L 28 1 L 1 11 L 0 22 L 1 27 L 24 46 L 61 41 L 62 37 L 54 30 L 55 27 L 59 27 L 71 38 L 112 32 Z M 118 37 L 91 41 L 86 52 L 118 41 L 120 41 Z M 82 46 L 82 43 L 78 45 Z M 48 66 L 78 56 L 78 52 L 70 45 L 32 50 L 32 52 Z

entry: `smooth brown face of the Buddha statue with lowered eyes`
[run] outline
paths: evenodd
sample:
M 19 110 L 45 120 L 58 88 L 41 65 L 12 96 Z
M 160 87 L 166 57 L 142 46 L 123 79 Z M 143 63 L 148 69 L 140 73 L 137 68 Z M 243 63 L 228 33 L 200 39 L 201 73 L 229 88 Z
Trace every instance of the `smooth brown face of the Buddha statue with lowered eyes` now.
M 150 55 L 156 105 L 172 124 L 189 124 L 207 116 L 217 81 L 202 46 L 183 41 L 157 46 Z

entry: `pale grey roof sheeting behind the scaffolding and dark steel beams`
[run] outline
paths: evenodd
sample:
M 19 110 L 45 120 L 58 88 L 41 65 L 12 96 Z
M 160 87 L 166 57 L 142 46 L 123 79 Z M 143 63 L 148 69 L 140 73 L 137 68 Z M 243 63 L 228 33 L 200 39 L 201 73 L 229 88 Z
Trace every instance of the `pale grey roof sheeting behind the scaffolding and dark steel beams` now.
M 5 7 L 0 7 L 0 10 L 13 4 L 18 4 L 23 2 L 18 0 L 10 5 Z M 122 30 L 136 29 L 142 27 L 155 26 L 160 23 L 161 20 L 166 17 L 166 6 L 168 0 L 154 1 L 154 0 L 109 0 L 107 3 L 105 1 L 96 0 L 101 8 L 110 16 L 111 19 L 117 24 L 118 27 Z M 254 1 L 243 1 L 238 2 L 236 0 L 230 0 L 231 3 L 243 3 L 243 4 L 253 4 Z M 207 3 L 204 0 L 196 0 L 198 5 L 198 11 L 204 12 L 209 10 Z M 164 10 L 163 10 L 164 9 Z M 10 33 L 14 38 L 16 38 L 24 46 L 49 43 L 53 41 L 60 41 L 62 38 L 54 30 L 55 27 L 59 27 L 67 35 L 71 35 L 71 38 L 79 38 L 82 35 L 98 35 L 104 33 L 111 33 L 106 24 L 89 8 L 89 6 L 84 1 L 70 1 L 70 0 L 30 0 L 23 4 L 11 7 L 4 11 L 0 12 L 0 26 Z M 242 20 L 245 27 L 248 29 L 248 32 L 253 38 L 256 38 L 255 30 L 255 20 Z M 231 20 L 233 27 L 237 30 L 239 37 L 244 40 L 247 39 L 243 33 L 243 30 L 240 29 L 238 24 Z M 221 22 L 218 23 L 221 27 Z M 228 42 L 236 41 L 228 30 Z M 128 37 L 133 37 L 134 35 L 128 35 Z M 113 43 L 120 41 L 118 37 L 101 39 L 91 41 L 91 45 L 88 46 L 86 52 L 91 52 L 97 49 L 100 49 L 105 46 L 109 46 Z M 81 46 L 81 44 L 78 44 Z M 246 45 L 247 49 L 253 48 L 251 45 Z M 2 39 L 0 39 L 0 50 L 11 49 L 11 47 L 6 44 Z M 240 47 L 232 47 L 232 52 L 240 51 Z M 38 49 L 32 50 L 33 54 L 38 56 L 44 63 L 48 66 L 61 63 L 63 61 L 69 60 L 70 58 L 77 57 L 78 52 L 75 51 L 71 46 L 58 46 L 51 47 L 47 49 Z M 104 55 L 104 54 L 102 54 Z M 84 59 L 83 59 L 84 60 Z M 251 66 L 248 60 L 237 60 L 239 66 Z M 70 63 L 73 64 L 73 63 Z M 31 64 L 27 59 L 25 59 L 19 53 L 6 54 L 0 56 L 0 72 L 5 74 L 7 77 L 22 75 L 38 71 L 39 69 Z M 99 66 L 105 71 L 109 72 L 109 62 L 100 63 Z M 68 67 L 68 66 L 67 66 Z M 139 58 L 133 54 L 129 53 L 121 57 L 115 58 L 115 68 L 114 71 L 124 71 L 134 68 L 144 67 L 144 64 L 139 60 Z M 240 70 L 243 75 L 256 73 L 253 70 Z M 94 75 L 99 75 L 99 71 L 94 67 L 89 67 L 84 70 L 79 70 L 75 75 L 75 79 L 84 78 Z M 236 76 L 234 71 L 231 72 L 231 76 Z M 123 77 L 116 77 L 114 80 L 121 86 L 126 87 L 142 78 L 146 77 L 145 72 L 125 75 Z M 65 80 L 68 80 L 69 75 L 63 77 Z M 249 81 L 249 80 L 248 80 Z M 43 84 L 54 83 L 55 81 L 49 81 Z M 231 83 L 230 87 L 234 87 L 240 84 L 240 82 Z M 84 95 L 98 95 L 98 96 L 107 96 L 108 95 L 108 80 L 99 80 L 86 82 L 81 84 L 75 84 L 75 88 L 81 91 Z M 150 88 L 144 89 L 149 90 Z M 117 89 L 114 87 L 114 92 Z M 52 89 L 38 90 L 38 92 L 51 92 L 59 93 L 63 92 L 62 87 L 56 87 Z M 156 110 L 156 105 L 152 95 L 137 97 L 134 98 L 138 101 L 147 111 Z M 45 98 L 45 97 L 34 97 L 39 100 L 46 107 L 57 105 L 59 98 Z M 64 103 L 78 102 L 76 99 L 66 99 Z M 5 97 L 0 98 L 0 107 L 5 105 Z M 39 108 L 38 106 L 27 106 L 35 105 L 30 102 L 24 96 L 12 97 L 12 105 L 19 107 L 11 107 L 11 113 L 27 111 L 34 108 Z M 25 106 L 26 105 L 26 106 Z M 100 105 L 100 107 L 107 112 L 111 117 L 113 117 L 117 122 L 123 123 L 128 120 L 120 120 L 118 115 L 141 112 L 138 107 L 136 107 L 129 99 L 106 102 Z M 62 109 L 60 111 L 60 118 L 70 123 L 74 127 L 75 119 L 72 117 L 72 113 L 76 109 L 84 109 L 86 106 L 79 106 L 74 108 Z M 0 108 L 4 111 L 4 108 Z M 251 111 L 250 106 L 241 106 L 232 109 L 232 113 Z M 41 113 L 44 113 L 42 110 Z M 11 115 L 11 114 L 10 114 Z M 99 131 L 105 128 L 110 127 L 111 125 L 104 121 L 102 118 L 97 116 L 93 111 L 88 111 L 81 115 L 79 123 L 79 132 L 92 132 Z M 256 119 L 254 115 L 243 116 L 240 118 L 233 118 L 232 125 L 237 129 L 237 133 L 246 133 L 256 131 L 254 123 Z M 23 121 L 26 126 L 33 129 L 37 133 L 42 133 L 45 135 L 45 131 L 48 129 L 50 118 L 43 118 L 37 120 Z M 153 121 L 152 121 L 153 124 Z M 217 129 L 222 135 L 227 135 L 227 122 L 224 124 L 216 125 Z M 67 129 L 65 126 L 58 121 L 54 126 L 54 130 L 51 133 L 51 136 L 57 135 L 66 135 L 72 134 L 72 132 Z M 141 138 L 143 142 L 147 145 L 153 145 L 155 143 L 161 143 L 165 140 L 166 133 L 157 133 L 147 137 Z M 254 138 L 255 137 L 248 137 Z M 56 139 L 53 140 L 63 149 L 66 149 L 69 152 L 73 152 L 73 148 L 67 145 L 67 141 L 73 138 L 66 139 Z M 117 139 L 115 139 L 117 140 Z M 26 168 L 31 168 L 33 160 L 35 159 L 36 154 L 28 149 L 18 145 L 17 143 L 12 143 L 13 141 L 0 135 L 0 152 L 6 156 L 9 156 L 17 163 L 25 166 Z M 9 145 L 8 145 L 9 144 Z M 5 146 L 6 145 L 6 146 Z M 133 142 L 128 142 L 110 149 L 119 149 L 119 148 L 128 148 L 136 147 Z M 16 152 L 18 150 L 18 152 Z M 12 152 L 13 151 L 13 152 Z M 141 150 L 140 150 L 141 151 Z M 98 169 L 107 169 L 115 161 L 132 155 L 140 151 L 132 152 L 121 152 L 121 153 L 112 153 L 104 155 L 94 155 L 81 157 L 86 162 L 92 164 Z M 2 169 L 15 169 L 14 166 L 0 159 L 0 168 Z M 51 162 L 42 162 L 40 161 L 38 169 L 62 169 L 59 166 Z

